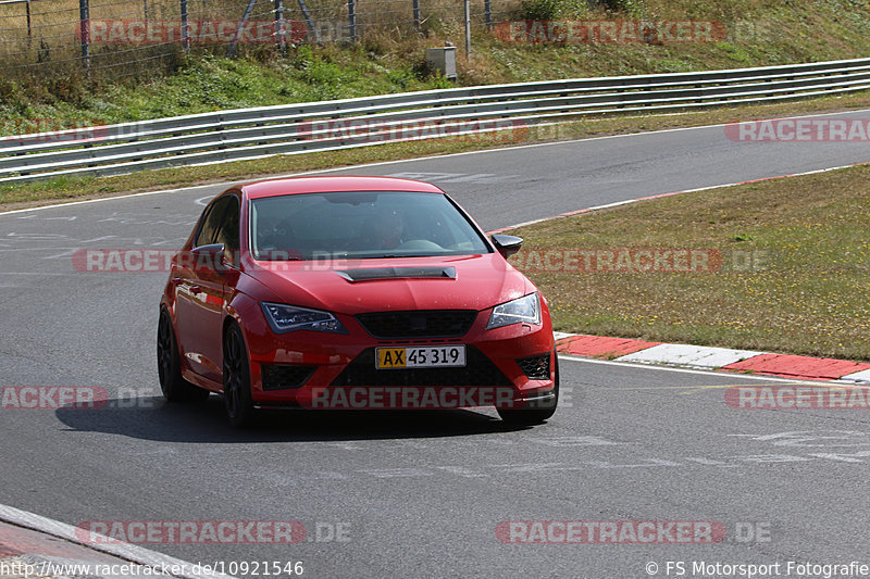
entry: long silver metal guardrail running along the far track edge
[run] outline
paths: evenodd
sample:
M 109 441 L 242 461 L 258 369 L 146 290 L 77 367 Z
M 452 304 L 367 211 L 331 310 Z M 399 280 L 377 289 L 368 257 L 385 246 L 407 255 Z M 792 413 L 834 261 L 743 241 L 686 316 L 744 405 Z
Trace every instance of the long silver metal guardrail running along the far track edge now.
M 221 111 L 0 138 L 0 185 L 515 130 L 587 114 L 870 89 L 870 59 L 579 78 Z

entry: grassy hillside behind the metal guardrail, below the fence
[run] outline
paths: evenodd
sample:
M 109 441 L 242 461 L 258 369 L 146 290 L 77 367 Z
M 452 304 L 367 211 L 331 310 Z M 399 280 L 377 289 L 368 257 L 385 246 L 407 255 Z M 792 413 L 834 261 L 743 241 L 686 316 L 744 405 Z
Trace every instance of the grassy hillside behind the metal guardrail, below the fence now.
M 602 0 L 589 8 L 585 0 L 519 0 L 511 5 L 508 18 L 714 21 L 724 34 L 714 42 L 530 43 L 506 42 L 498 26 L 481 26 L 467 60 L 460 23 L 433 17 L 420 34 L 372 27 L 356 45 L 302 45 L 286 55 L 272 47 L 243 51 L 237 59 L 221 50 L 195 51 L 179 53 L 161 70 L 90 79 L 34 70 L 29 76 L 0 75 L 0 134 L 26 131 L 22 119 L 32 118 L 115 123 L 452 86 L 428 75 L 423 63 L 424 49 L 445 41 L 459 47 L 457 83 L 465 86 L 870 56 L 867 1 Z M 0 54 L 0 73 L 9 62 Z

